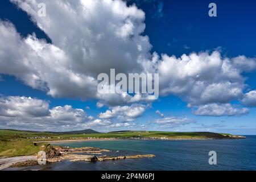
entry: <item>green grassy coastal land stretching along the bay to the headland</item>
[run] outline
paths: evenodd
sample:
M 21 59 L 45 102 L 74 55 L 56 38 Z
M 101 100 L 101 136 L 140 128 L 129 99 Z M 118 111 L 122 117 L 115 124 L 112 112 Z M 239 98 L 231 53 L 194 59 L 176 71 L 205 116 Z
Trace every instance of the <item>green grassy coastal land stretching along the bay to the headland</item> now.
M 87 130 L 88 131 L 88 130 Z M 90 130 L 89 130 L 90 131 Z M 81 140 L 81 139 L 225 139 L 229 134 L 217 134 L 208 132 L 163 132 L 163 131 L 115 131 L 110 133 L 86 134 L 83 131 L 68 133 L 49 133 L 36 131 L 0 130 L 0 158 L 10 156 L 32 155 L 39 151 L 40 146 L 32 142 L 53 140 Z M 81 134 L 80 134 L 81 133 Z M 229 137 L 228 137 L 229 136 Z

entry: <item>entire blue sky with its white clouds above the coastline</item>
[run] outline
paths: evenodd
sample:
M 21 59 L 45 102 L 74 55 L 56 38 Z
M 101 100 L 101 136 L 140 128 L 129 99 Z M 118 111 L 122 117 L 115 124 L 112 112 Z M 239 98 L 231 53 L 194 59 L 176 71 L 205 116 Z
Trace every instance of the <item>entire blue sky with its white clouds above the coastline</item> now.
M 102 3 L 102 1 L 98 2 Z M 68 15 L 68 11 L 65 12 L 63 10 L 70 19 L 67 17 L 61 18 L 60 12 L 62 12 L 61 7 L 63 6 L 56 5 L 56 3 L 45 1 L 47 16 L 46 21 L 44 21 L 44 19 L 38 19 L 31 11 L 31 9 L 36 9 L 36 5 L 30 5 L 31 9 L 26 9 L 19 0 L 14 0 L 13 2 L 1 1 L 1 22 L 9 22 L 13 26 L 1 24 L 2 36 L 0 36 L 0 40 L 2 45 L 0 46 L 0 52 L 4 53 L 0 54 L 0 66 L 2 67 L 0 69 L 0 128 L 77 130 L 90 127 L 98 131 L 163 130 L 256 134 L 256 98 L 254 94 L 256 89 L 256 3 L 253 1 L 214 1 L 217 5 L 217 17 L 209 17 L 208 5 L 210 2 L 212 1 L 137 0 L 127 1 L 127 5 L 125 3 L 122 3 L 122 5 L 115 5 L 114 3 L 112 5 L 112 3 L 109 3 L 108 5 L 101 6 L 99 3 L 99 5 L 95 5 L 95 7 L 98 6 L 98 9 L 96 9 L 98 12 L 93 9 L 92 5 L 86 4 L 84 6 L 90 12 L 93 20 L 90 18 L 86 19 L 86 13 L 84 13 L 84 20 L 80 17 L 81 19 L 77 19 L 78 23 L 74 23 L 76 21 L 75 19 L 72 20 L 72 16 L 75 15 Z M 135 14 L 132 11 L 128 11 L 127 7 L 134 3 L 136 7 L 134 6 L 133 8 L 137 12 Z M 82 5 L 79 3 L 77 5 L 69 3 L 68 6 L 72 10 L 72 8 L 76 9 Z M 123 12 L 127 10 L 127 13 L 114 12 L 115 9 L 112 9 L 114 6 Z M 100 13 L 101 7 L 105 8 L 102 10 L 102 14 Z M 107 11 L 106 9 L 108 8 L 111 11 Z M 55 14 L 55 11 L 60 15 Z M 141 14 L 142 11 L 145 13 L 144 18 Z M 120 18 L 123 16 L 125 18 Z M 31 17 L 34 18 L 34 22 L 31 21 Z M 101 24 L 102 27 L 99 26 L 102 23 L 101 19 L 104 19 L 103 22 L 106 22 Z M 97 21 L 100 23 L 97 23 Z M 132 24 L 132 30 L 136 31 L 129 32 L 128 28 L 126 30 L 128 33 L 126 31 L 125 33 L 132 34 L 133 40 L 124 38 L 123 32 L 117 34 L 122 35 L 122 37 L 115 38 L 114 36 L 116 35 L 104 37 L 104 35 L 113 34 L 113 31 L 107 32 L 106 29 L 104 30 L 105 26 L 107 29 L 109 27 L 108 21 L 117 28 L 122 26 L 124 22 L 127 26 Z M 42 27 L 39 28 L 40 26 L 36 26 L 36 23 L 40 23 Z M 143 31 L 141 31 L 143 23 L 146 27 L 145 29 L 142 28 Z M 15 28 L 12 29 L 13 27 Z M 104 51 L 99 46 L 94 47 L 94 41 L 98 41 L 98 39 L 87 36 L 85 30 L 92 31 L 90 32 L 92 36 L 96 32 L 98 35 L 103 36 L 104 38 L 100 42 L 101 45 L 105 45 L 105 47 L 109 45 L 108 53 L 111 55 L 109 57 L 117 57 L 117 60 L 108 60 L 108 55 L 105 55 L 106 60 L 101 60 L 102 52 Z M 136 33 L 137 30 L 139 34 Z M 58 31 L 59 35 L 56 33 Z M 35 32 L 37 38 L 35 42 L 45 39 L 45 42 L 40 42 L 40 44 L 49 46 L 49 50 L 47 49 L 49 52 L 47 53 L 47 50 L 43 53 L 35 52 L 35 55 L 41 56 L 38 59 L 41 63 L 48 64 L 48 61 L 51 62 L 49 63 L 49 70 L 40 70 L 42 68 L 42 66 L 38 66 L 40 63 L 33 62 L 34 59 L 37 59 L 33 52 L 36 51 L 34 49 L 36 44 L 27 43 L 22 38 L 15 38 L 20 39 L 19 41 L 12 41 L 12 35 L 4 34 L 5 32 L 11 32 L 15 35 L 20 34 L 23 38 L 27 38 L 28 35 L 32 35 Z M 148 37 L 148 40 L 142 40 L 142 37 L 144 38 L 145 36 Z M 32 38 L 32 40 L 34 39 Z M 120 39 L 123 39 L 122 41 L 125 42 L 121 42 Z M 4 42 L 6 40 L 8 42 Z M 65 42 L 65 40 L 68 41 Z M 114 41 L 112 42 L 112 40 Z M 32 49 L 27 44 L 29 46 L 32 45 Z M 134 51 L 131 48 L 134 44 L 141 44 L 143 53 Z M 151 48 L 147 48 L 149 45 L 151 45 Z M 63 52 L 60 54 L 65 53 L 65 55 L 60 56 L 56 52 L 51 51 L 55 50 L 53 46 L 61 49 Z M 77 48 L 74 48 L 76 46 Z M 89 50 L 92 55 L 93 53 L 95 54 L 93 55 L 96 57 L 96 60 L 93 60 L 95 62 L 89 60 L 88 55 L 80 54 L 80 49 L 83 46 L 84 49 L 82 50 Z M 26 49 L 26 47 L 28 48 Z M 118 52 L 116 51 L 117 47 L 121 53 L 115 55 Z M 14 51 L 15 53 L 12 52 L 13 50 L 16 50 Z M 163 81 L 160 80 L 160 89 L 168 91 L 166 93 L 162 92 L 157 101 L 117 101 L 115 98 L 112 100 L 108 96 L 95 96 L 91 90 L 84 90 L 84 93 L 82 91 L 78 92 L 77 88 L 83 89 L 80 84 L 76 88 L 72 81 L 69 82 L 67 80 L 65 83 L 65 76 L 67 74 L 61 79 L 59 72 L 55 69 L 51 71 L 51 67 L 55 65 L 52 63 L 57 59 L 60 59 L 58 64 L 68 63 L 67 73 L 72 72 L 92 77 L 95 77 L 98 70 L 104 70 L 104 65 L 106 65 L 106 68 L 115 68 L 116 65 L 116 69 L 120 71 L 126 70 L 126 68 L 127 72 L 129 71 L 128 69 L 133 70 L 133 66 L 130 64 L 126 65 L 126 60 L 122 59 L 122 51 L 129 53 L 133 60 L 138 59 L 138 54 L 148 60 L 152 58 L 154 52 L 158 54 L 159 68 L 157 71 L 163 75 Z M 218 55 L 213 55 L 214 51 L 217 51 Z M 192 65 L 188 69 L 191 69 L 191 72 L 199 69 L 198 79 L 192 76 L 189 77 L 191 72 L 185 73 L 188 69 L 179 68 L 178 58 L 183 54 L 190 55 L 191 53 L 195 53 L 198 56 L 196 59 L 199 59 L 199 61 L 196 61 L 195 63 L 197 64 Z M 207 53 L 207 55 L 201 55 L 200 53 Z M 168 55 L 168 58 L 161 57 L 163 54 Z M 84 57 L 81 58 L 81 55 Z M 168 64 L 171 63 L 168 59 L 172 55 L 176 56 L 175 64 L 177 65 L 170 67 L 173 68 L 170 69 L 170 75 L 172 75 L 172 72 L 176 75 L 176 69 L 179 69 L 181 72 L 177 73 L 182 75 L 184 71 L 184 74 L 187 75 L 185 80 L 181 76 L 175 77 L 174 80 L 172 80 L 173 76 L 170 76 L 169 80 L 164 80 L 166 77 L 164 74 L 166 73 L 161 72 L 163 68 L 160 65 L 168 67 Z M 244 57 L 238 57 L 241 55 L 244 55 Z M 78 56 L 80 57 L 77 58 Z M 51 58 L 48 59 L 46 57 Z M 64 60 L 61 60 L 62 57 Z M 70 57 L 72 59 L 69 60 Z M 192 63 L 193 57 L 190 59 Z M 204 59 L 207 61 L 207 64 L 201 65 L 200 61 L 204 62 Z M 208 61 L 212 59 L 216 59 L 216 61 L 221 59 L 220 67 L 223 69 L 223 65 L 226 65 L 225 60 L 229 59 L 228 67 L 230 67 L 230 72 L 226 73 L 222 70 L 222 73 L 222 71 L 218 72 L 216 67 L 214 67 L 216 71 L 210 66 L 208 68 L 208 65 L 211 65 Z M 23 68 L 23 63 L 27 60 L 31 61 L 32 67 L 35 64 L 34 70 L 30 67 Z M 83 64 L 81 61 L 85 61 L 86 64 Z M 134 64 L 134 69 L 137 67 L 137 62 Z M 123 67 L 122 64 L 124 64 Z M 66 68 L 67 65 L 64 65 L 64 67 Z M 208 69 L 210 72 L 209 78 L 208 74 L 204 73 L 204 70 Z M 53 75 L 53 72 L 57 72 L 58 75 L 57 73 Z M 218 77 L 216 75 L 221 76 Z M 34 77 L 37 77 L 36 81 L 31 81 Z M 43 85 L 39 82 L 43 82 Z M 175 84 L 170 84 L 170 82 Z M 204 86 L 202 88 L 195 88 L 193 86 L 193 83 L 198 84 L 201 82 L 204 83 L 205 88 Z M 228 86 L 225 86 L 226 82 L 229 83 Z M 224 85 L 220 86 L 220 89 L 212 86 L 220 84 Z M 88 85 L 90 86 L 91 83 L 88 83 Z M 88 89 L 88 85 L 85 86 L 86 89 Z M 166 88 L 167 85 L 172 88 L 176 86 L 179 91 Z M 188 89 L 190 87 L 191 90 L 199 89 L 199 96 L 196 96 L 194 92 L 192 93 Z M 207 88 L 211 88 L 211 90 L 209 91 Z M 181 89 L 187 90 L 181 92 Z M 223 93 L 223 96 L 220 95 L 218 92 L 221 89 L 227 94 Z M 207 90 L 207 93 L 205 90 Z M 204 94 L 207 94 L 207 98 L 200 97 Z M 19 98 L 22 96 L 24 97 L 20 100 Z M 117 102 L 113 104 L 110 101 Z M 99 107 L 97 103 L 104 106 Z M 65 107 L 65 105 L 70 107 Z M 23 107 L 23 109 L 20 109 L 20 107 Z M 34 111 L 32 107 L 38 109 Z M 45 110 L 42 111 L 39 109 L 41 107 L 47 108 L 44 108 Z M 106 116 L 109 113 L 111 116 Z

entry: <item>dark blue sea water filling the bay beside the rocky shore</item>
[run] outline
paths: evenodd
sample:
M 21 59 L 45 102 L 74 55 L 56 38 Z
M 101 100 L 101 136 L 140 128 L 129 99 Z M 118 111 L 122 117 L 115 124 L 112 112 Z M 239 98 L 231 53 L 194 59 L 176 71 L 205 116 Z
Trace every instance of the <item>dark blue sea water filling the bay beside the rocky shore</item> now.
M 69 147 L 100 147 L 107 155 L 154 154 L 155 158 L 69 162 L 13 168 L 12 170 L 256 170 L 256 135 L 225 140 L 115 140 L 61 143 Z M 60 143 L 59 143 L 60 144 Z M 217 152 L 217 165 L 209 165 L 209 151 Z

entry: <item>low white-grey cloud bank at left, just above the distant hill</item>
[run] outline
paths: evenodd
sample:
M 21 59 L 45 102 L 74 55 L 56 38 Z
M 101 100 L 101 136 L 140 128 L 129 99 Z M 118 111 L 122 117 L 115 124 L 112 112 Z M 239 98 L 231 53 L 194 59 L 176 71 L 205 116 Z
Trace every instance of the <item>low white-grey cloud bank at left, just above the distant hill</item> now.
M 49 108 L 49 102 L 31 97 L 0 97 L 0 127 L 60 131 L 68 129 L 86 129 L 102 123 L 88 116 L 82 109 L 72 106 Z M 81 127 L 82 126 L 82 127 Z

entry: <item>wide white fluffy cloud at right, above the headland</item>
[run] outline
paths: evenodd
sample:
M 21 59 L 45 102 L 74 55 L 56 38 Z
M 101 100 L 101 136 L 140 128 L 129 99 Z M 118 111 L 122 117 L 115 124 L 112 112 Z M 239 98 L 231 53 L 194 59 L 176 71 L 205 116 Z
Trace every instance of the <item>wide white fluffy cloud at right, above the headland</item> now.
M 241 73 L 256 68 L 255 59 L 245 56 L 229 59 L 219 51 L 191 53 L 179 58 L 168 55 L 159 58 L 155 53 L 153 60 L 156 61 L 147 64 L 147 69 L 160 74 L 160 93 L 179 96 L 189 105 L 240 100 L 246 87 Z

